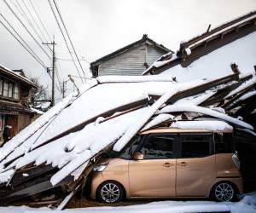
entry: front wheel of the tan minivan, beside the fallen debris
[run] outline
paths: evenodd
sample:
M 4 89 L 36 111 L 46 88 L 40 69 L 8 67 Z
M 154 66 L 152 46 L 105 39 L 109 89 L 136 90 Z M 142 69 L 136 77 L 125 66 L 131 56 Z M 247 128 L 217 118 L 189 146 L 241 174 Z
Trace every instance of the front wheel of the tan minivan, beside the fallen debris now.
M 105 203 L 118 203 L 124 194 L 123 187 L 116 181 L 103 182 L 97 190 L 97 198 Z

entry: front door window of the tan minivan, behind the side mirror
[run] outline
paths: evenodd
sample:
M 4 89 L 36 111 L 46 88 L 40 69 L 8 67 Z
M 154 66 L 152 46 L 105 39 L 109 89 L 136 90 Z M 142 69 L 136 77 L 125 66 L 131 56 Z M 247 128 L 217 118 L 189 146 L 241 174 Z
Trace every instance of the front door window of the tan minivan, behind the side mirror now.
M 172 135 L 148 135 L 148 140 L 141 149 L 144 159 L 173 158 Z

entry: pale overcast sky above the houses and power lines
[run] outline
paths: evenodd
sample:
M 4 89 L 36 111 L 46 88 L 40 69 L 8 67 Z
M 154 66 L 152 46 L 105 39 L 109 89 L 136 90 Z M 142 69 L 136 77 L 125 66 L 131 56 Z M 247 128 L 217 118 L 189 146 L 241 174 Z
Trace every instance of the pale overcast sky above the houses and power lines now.
M 23 1 L 37 20 L 30 0 L 7 0 L 32 31 L 18 5 L 20 3 L 27 14 Z M 50 36 L 55 35 L 57 57 L 70 59 L 48 0 L 31 1 L 38 9 L 38 14 Z M 209 24 L 212 27 L 218 26 L 256 9 L 256 0 L 56 0 L 56 2 L 79 58 L 84 56 L 90 62 L 137 41 L 144 33 L 155 42 L 176 51 L 181 41 L 207 31 Z M 50 60 L 32 41 L 3 0 L 0 1 L 0 13 L 11 22 L 44 63 L 50 66 Z M 0 19 L 3 20 L 2 17 Z M 44 31 L 43 28 L 41 30 Z M 46 33 L 44 34 L 46 37 Z M 50 78 L 44 68 L 27 54 L 2 25 L 0 25 L 0 36 L 0 64 L 10 69 L 22 68 L 27 76 L 38 77 L 41 83 L 50 84 Z M 81 62 L 89 76 L 88 62 L 85 60 Z M 67 80 L 67 74 L 78 75 L 72 62 L 59 60 L 59 64 L 61 80 Z

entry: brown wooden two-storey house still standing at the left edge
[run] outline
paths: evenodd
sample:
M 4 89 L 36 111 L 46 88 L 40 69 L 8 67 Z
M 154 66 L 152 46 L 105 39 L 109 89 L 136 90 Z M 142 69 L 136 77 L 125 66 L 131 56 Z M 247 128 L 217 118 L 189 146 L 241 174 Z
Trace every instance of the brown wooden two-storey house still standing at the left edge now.
M 22 71 L 12 71 L 0 66 L 0 144 L 5 125 L 12 126 L 11 136 L 16 135 L 32 122 L 30 95 L 37 85 L 27 79 Z

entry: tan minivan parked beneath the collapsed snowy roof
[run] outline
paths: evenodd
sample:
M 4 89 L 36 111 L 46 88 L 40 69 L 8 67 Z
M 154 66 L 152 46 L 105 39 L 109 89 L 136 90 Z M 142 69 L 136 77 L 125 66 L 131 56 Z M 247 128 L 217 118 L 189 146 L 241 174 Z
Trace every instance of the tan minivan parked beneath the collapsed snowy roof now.
M 118 156 L 93 169 L 90 198 L 212 198 L 230 201 L 242 193 L 232 130 L 148 130 Z

